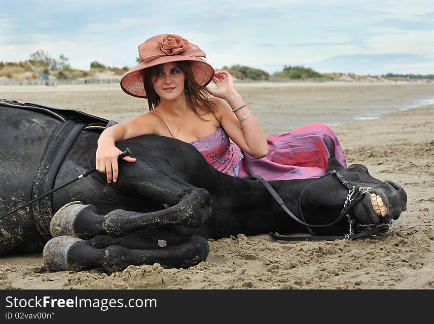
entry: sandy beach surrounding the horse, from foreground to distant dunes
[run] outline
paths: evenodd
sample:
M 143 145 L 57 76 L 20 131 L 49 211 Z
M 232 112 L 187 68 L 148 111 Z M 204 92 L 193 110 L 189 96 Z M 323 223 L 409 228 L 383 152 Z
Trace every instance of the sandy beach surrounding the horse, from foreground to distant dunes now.
M 354 108 L 363 115 L 370 107 L 393 111 L 433 98 L 434 84 L 258 83 L 238 89 L 252 103 L 266 135 L 324 122 L 337 134 L 348 164 L 362 163 L 374 177 L 401 184 L 408 210 L 395 229 L 375 240 L 334 242 L 283 243 L 268 235 L 240 234 L 210 240 L 207 261 L 196 267 L 130 266 L 111 275 L 99 270 L 47 273 L 40 253 L 9 255 L 0 258 L 0 288 L 434 288 L 434 106 L 351 121 Z M 146 109 L 143 100 L 114 85 L 0 87 L 0 97 L 119 121 Z

